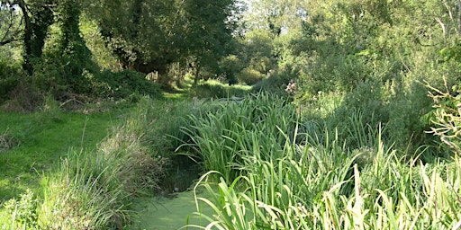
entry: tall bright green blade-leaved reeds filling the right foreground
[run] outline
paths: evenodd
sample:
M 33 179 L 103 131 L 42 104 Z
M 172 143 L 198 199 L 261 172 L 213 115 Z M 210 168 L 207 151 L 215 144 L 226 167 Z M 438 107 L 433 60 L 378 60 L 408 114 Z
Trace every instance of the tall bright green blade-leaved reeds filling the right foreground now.
M 274 114 L 289 108 L 262 101 L 239 104 L 242 117 L 263 106 Z M 457 157 L 424 164 L 417 155 L 396 151 L 385 144 L 382 128 L 362 125 L 359 111 L 345 118 L 346 138 L 327 121 L 314 128 L 323 134 L 312 137 L 298 133 L 310 129 L 296 126 L 296 116 L 285 116 L 291 125 L 281 126 L 283 116 L 267 119 L 267 111 L 251 125 L 232 106 L 191 118 L 192 128 L 185 129 L 205 167 L 216 172 L 202 181 L 221 178 L 196 186 L 211 194 L 197 202 L 214 210 L 203 229 L 457 229 Z

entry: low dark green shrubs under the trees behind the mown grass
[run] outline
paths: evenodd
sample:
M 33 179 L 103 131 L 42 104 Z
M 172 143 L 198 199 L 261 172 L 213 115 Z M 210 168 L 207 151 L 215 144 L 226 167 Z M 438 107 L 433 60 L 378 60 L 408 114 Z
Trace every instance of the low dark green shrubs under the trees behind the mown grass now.
M 91 61 L 86 60 L 85 63 L 67 62 L 66 57 L 58 58 L 55 54 L 45 54 L 41 62 L 35 65 L 34 84 L 41 91 L 49 92 L 59 100 L 66 99 L 68 93 L 116 100 L 128 98 L 133 93 L 161 96 L 159 86 L 139 72 L 100 72 Z

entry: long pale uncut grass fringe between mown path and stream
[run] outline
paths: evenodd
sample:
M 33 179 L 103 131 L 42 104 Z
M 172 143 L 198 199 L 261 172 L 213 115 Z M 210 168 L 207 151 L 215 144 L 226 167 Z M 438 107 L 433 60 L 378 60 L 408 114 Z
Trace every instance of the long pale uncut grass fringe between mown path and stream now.
M 137 113 L 137 116 L 142 114 Z M 142 142 L 143 120 L 113 128 L 96 153 L 72 153 L 57 175 L 43 179 L 40 226 L 50 229 L 122 229 L 130 200 L 158 190 L 163 158 Z

